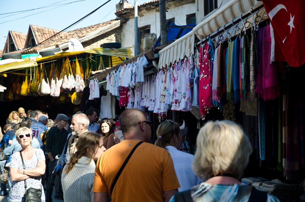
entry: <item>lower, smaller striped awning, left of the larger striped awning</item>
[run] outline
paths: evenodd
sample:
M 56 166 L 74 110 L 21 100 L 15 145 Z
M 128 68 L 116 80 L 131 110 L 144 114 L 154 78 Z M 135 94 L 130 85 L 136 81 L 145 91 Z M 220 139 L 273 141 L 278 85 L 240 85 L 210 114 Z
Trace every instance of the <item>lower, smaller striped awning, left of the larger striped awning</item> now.
M 175 61 L 190 56 L 194 49 L 195 34 L 190 31 L 177 41 L 159 51 L 159 68 L 169 66 Z

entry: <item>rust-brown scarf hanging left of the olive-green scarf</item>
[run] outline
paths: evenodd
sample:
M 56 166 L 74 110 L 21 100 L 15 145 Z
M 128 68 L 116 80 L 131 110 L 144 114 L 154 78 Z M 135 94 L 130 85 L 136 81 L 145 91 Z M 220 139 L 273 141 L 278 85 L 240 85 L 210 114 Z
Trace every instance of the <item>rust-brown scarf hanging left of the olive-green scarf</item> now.
M 218 51 L 217 51 L 217 64 L 215 64 L 215 66 L 217 65 L 217 98 L 221 99 L 222 95 L 224 94 L 224 69 L 223 69 L 223 58 L 222 58 L 222 44 L 220 44 L 217 47 Z

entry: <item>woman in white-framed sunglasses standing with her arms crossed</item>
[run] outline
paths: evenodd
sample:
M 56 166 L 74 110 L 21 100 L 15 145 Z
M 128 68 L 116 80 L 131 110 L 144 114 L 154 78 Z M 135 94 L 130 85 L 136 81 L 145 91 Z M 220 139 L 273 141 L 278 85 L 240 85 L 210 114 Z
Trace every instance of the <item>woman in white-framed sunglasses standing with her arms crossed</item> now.
M 41 201 L 45 201 L 45 192 L 41 184 L 41 175 L 45 174 L 45 154 L 41 149 L 35 149 L 31 146 L 32 131 L 27 127 L 19 128 L 16 132 L 16 138 L 21 145 L 21 151 L 13 153 L 9 165 L 9 175 L 13 181 L 10 190 L 9 201 L 23 201 L 25 193 L 25 183 L 28 188 L 41 189 Z M 25 169 L 23 168 L 23 163 Z

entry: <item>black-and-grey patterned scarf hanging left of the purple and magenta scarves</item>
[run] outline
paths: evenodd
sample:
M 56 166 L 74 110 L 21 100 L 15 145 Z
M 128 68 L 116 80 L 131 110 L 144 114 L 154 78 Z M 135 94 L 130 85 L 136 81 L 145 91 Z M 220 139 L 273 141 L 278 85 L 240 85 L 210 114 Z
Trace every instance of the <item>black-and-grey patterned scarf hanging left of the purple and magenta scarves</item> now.
M 255 92 L 256 87 L 256 31 L 253 31 L 251 38 L 251 49 L 250 49 L 250 99 L 255 102 L 257 100 L 257 93 Z

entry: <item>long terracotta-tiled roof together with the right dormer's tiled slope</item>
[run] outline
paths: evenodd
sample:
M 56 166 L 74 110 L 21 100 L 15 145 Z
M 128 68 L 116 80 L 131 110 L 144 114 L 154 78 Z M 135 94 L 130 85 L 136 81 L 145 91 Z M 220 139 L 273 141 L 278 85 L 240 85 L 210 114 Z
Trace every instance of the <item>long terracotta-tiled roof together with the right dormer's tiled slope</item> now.
M 117 22 L 117 20 L 110 20 L 110 21 L 107 21 L 104 23 L 99 23 L 99 24 L 88 26 L 88 27 L 79 28 L 76 30 L 68 31 L 68 32 L 63 32 L 63 33 L 59 34 L 59 36 L 56 36 L 48 41 L 45 41 L 42 44 L 40 44 L 34 48 L 25 50 L 23 53 L 41 50 L 41 49 L 48 48 L 48 47 L 54 46 L 54 45 L 60 45 L 60 44 L 68 42 L 70 40 L 70 38 L 77 38 L 77 39 L 82 38 L 82 37 L 90 34 L 91 32 L 96 31 L 107 25 L 111 25 L 114 22 Z M 45 39 L 47 39 L 47 38 L 51 37 L 52 35 L 59 32 L 58 30 L 52 30 L 52 29 L 48 29 L 45 27 L 39 27 L 39 26 L 33 26 L 33 25 L 32 25 L 32 27 L 33 27 L 33 31 L 35 32 L 37 41 L 38 41 L 38 38 L 40 39 L 40 41 L 38 41 L 38 43 L 40 43 L 41 41 L 44 41 Z M 42 37 L 44 37 L 44 38 L 42 38 Z

